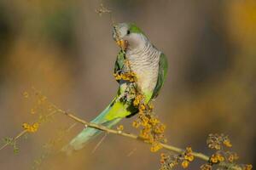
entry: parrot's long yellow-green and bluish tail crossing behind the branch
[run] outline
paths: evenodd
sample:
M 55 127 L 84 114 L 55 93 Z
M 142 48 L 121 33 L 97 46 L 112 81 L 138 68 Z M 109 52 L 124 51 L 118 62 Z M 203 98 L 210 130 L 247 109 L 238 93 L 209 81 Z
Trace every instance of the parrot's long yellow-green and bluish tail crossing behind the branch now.
M 127 111 L 127 105 L 115 102 L 115 99 L 113 99 L 111 104 L 91 122 L 102 124 L 105 127 L 113 127 L 113 125 L 117 124 L 123 117 L 129 114 L 131 114 L 131 112 Z M 73 150 L 80 150 L 90 139 L 94 139 L 100 133 L 102 133 L 102 131 L 95 128 L 84 128 L 82 132 L 72 139 L 62 150 L 66 151 L 67 154 L 71 153 Z

